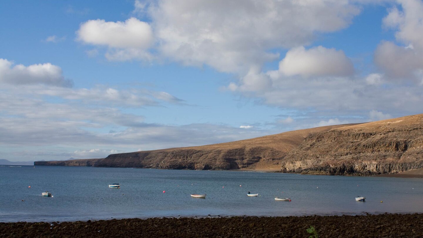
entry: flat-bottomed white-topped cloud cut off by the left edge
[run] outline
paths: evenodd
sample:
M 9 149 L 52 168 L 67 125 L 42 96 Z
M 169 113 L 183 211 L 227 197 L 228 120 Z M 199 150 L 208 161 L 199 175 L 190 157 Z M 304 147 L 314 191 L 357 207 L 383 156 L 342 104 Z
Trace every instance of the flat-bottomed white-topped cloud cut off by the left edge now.
M 3 58 L 0 58 L 0 82 L 14 85 L 45 84 L 62 87 L 73 85 L 71 80 L 63 77 L 59 66 L 51 63 L 30 66 L 14 65 L 12 61 Z

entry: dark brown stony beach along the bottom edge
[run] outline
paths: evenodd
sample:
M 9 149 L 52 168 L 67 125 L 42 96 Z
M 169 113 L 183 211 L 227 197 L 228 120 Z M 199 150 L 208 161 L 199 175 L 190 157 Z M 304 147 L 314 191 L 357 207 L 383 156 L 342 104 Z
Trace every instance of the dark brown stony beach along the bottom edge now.
M 0 237 L 423 237 L 423 214 L 0 223 Z

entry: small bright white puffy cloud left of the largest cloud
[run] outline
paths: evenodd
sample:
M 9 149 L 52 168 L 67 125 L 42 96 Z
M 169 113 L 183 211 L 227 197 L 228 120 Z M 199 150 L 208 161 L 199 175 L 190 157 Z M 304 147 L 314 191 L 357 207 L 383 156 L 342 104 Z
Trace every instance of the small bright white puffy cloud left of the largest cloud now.
M 83 22 L 77 30 L 77 39 L 86 44 L 109 47 L 107 58 L 117 60 L 149 58 L 146 50 L 154 42 L 151 26 L 135 17 L 125 22 L 102 19 Z

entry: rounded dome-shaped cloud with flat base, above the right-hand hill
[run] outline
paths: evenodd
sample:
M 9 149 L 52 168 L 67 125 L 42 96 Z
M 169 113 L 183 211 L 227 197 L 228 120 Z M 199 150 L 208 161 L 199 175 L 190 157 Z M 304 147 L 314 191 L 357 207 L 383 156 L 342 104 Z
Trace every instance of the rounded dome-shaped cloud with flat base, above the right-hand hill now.
M 349 76 L 354 73 L 354 66 L 342 50 L 297 47 L 286 53 L 279 70 L 287 76 Z

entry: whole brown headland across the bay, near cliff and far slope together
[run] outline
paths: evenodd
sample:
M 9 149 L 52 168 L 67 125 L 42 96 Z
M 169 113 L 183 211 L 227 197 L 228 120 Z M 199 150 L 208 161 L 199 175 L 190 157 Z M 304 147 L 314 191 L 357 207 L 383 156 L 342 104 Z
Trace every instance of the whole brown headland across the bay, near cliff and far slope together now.
M 35 165 L 392 174 L 423 168 L 423 114 L 221 144 L 113 154 L 104 159 L 43 161 Z

